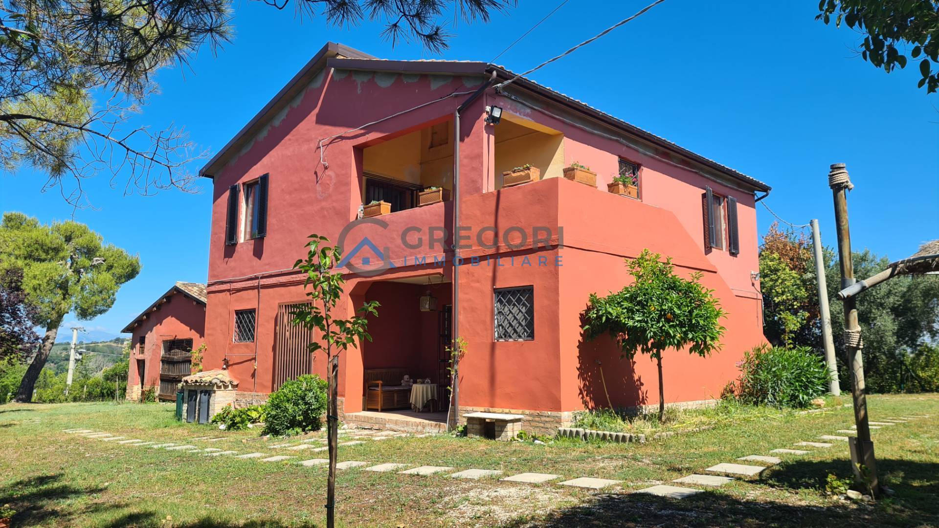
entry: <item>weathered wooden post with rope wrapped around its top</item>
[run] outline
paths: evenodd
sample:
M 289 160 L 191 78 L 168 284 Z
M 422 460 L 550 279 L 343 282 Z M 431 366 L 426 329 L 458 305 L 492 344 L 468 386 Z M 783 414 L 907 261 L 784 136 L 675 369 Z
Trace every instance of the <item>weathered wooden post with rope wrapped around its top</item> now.
M 854 285 L 854 263 L 851 260 L 851 231 L 848 228 L 849 190 L 854 189 L 844 163 L 834 163 L 828 171 L 828 187 L 835 198 L 835 224 L 838 227 L 838 255 L 841 269 L 841 289 Z M 844 300 L 844 349 L 851 368 L 851 393 L 854 399 L 854 424 L 857 436 L 848 438 L 854 478 L 870 488 L 870 493 L 880 494 L 877 480 L 877 461 L 874 458 L 874 443 L 870 442 L 868 424 L 868 400 L 864 388 L 864 360 L 861 349 L 861 327 L 857 324 L 857 301 L 854 296 Z

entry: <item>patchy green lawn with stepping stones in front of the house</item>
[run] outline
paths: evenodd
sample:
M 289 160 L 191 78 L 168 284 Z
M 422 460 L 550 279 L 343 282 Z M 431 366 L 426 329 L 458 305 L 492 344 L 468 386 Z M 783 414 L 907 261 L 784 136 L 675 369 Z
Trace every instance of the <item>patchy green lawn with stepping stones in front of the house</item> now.
M 544 484 L 431 476 L 339 473 L 345 526 L 939 525 L 939 395 L 871 396 L 873 420 L 930 414 L 873 432 L 882 481 L 894 496 L 865 505 L 825 493 L 828 474 L 848 477 L 846 443 L 785 458 L 759 480 L 675 501 L 629 494 L 719 462 L 768 455 L 854 422 L 850 408 L 813 414 L 762 412 L 714 429 L 650 443 L 495 443 L 447 436 L 400 438 L 340 448 L 340 460 L 453 466 L 622 480 L 605 492 Z M 742 417 L 752 417 L 752 413 Z M 0 406 L 0 505 L 13 526 L 318 526 L 326 471 L 287 462 L 201 457 L 66 434 L 85 427 L 128 439 L 193 442 L 250 453 L 298 455 L 256 430 L 223 432 L 179 424 L 170 405 L 105 403 Z M 292 443 L 296 443 L 293 439 Z M 290 442 L 287 440 L 286 442 Z M 809 448 L 810 449 L 810 448 Z M 309 450 L 303 458 L 325 457 Z M 560 479 L 559 479 L 560 480 Z

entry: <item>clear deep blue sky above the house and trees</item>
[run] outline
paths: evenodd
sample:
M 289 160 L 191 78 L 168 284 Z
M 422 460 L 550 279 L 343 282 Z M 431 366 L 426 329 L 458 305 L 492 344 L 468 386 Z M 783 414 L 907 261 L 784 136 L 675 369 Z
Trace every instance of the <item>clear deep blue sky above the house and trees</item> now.
M 162 70 L 161 93 L 139 122 L 184 125 L 214 152 L 327 40 L 385 58 L 488 61 L 560 0 L 519 3 L 489 24 L 452 25 L 450 51 L 435 55 L 417 44 L 393 48 L 377 23 L 336 29 L 239 0 L 232 42 L 214 56 L 201 50 L 189 70 Z M 568 2 L 498 63 L 528 70 L 646 3 Z M 864 62 L 853 51 L 858 34 L 816 22 L 816 6 L 669 0 L 531 77 L 762 179 L 774 189 L 767 205 L 794 224 L 818 218 L 828 245 L 835 234 L 827 168 L 848 163 L 854 248 L 907 256 L 936 237 L 939 97 L 916 88 L 915 63 L 885 74 Z M 39 193 L 43 182 L 28 170 L 0 174 L 0 209 L 68 219 L 72 209 L 57 192 Z M 85 182 L 96 209 L 75 218 L 143 261 L 114 308 L 83 323 L 116 334 L 173 282 L 206 280 L 211 196 L 208 180 L 202 194 L 155 196 L 123 196 L 120 181 L 117 189 L 109 183 Z M 758 212 L 762 233 L 773 218 Z

